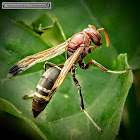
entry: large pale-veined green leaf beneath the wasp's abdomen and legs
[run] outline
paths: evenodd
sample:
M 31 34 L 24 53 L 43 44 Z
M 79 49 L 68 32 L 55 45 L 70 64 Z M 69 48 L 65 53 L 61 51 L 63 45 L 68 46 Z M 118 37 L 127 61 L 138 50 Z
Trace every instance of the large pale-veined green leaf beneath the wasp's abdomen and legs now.
M 117 62 L 120 70 L 128 67 L 126 55 L 120 55 Z M 77 78 L 82 86 L 85 107 L 91 117 L 104 130 L 103 134 L 93 126 L 80 110 L 78 91 L 70 78 L 70 74 L 59 87 L 46 109 L 36 120 L 33 120 L 32 101 L 30 99 L 22 100 L 21 97 L 34 92 L 41 75 L 42 71 L 38 71 L 1 81 L 1 97 L 8 100 L 6 101 L 8 105 L 5 103 L 5 107 L 2 109 L 15 115 L 13 111 L 9 111 L 12 110 L 12 108 L 9 109 L 9 104 L 12 107 L 14 104 L 22 112 L 22 116 L 28 118 L 38 127 L 35 130 L 41 131 L 48 139 L 85 139 L 87 137 L 89 139 L 113 139 L 116 136 L 125 99 L 133 81 L 130 71 L 125 74 L 114 75 L 94 69 L 89 69 L 86 72 L 78 69 Z M 12 94 L 9 95 L 9 93 Z M 13 110 L 15 110 L 14 107 Z M 17 117 L 20 115 L 20 113 L 16 114 Z M 28 123 L 32 125 L 30 122 Z

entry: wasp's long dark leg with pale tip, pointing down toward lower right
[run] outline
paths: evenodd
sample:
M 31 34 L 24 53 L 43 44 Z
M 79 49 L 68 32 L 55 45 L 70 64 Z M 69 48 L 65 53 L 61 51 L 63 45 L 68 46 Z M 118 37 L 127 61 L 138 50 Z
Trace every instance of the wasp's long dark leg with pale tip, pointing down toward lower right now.
M 89 118 L 89 120 L 92 122 L 92 124 L 94 124 L 94 126 L 100 131 L 100 132 L 103 132 L 103 130 L 94 122 L 94 120 L 89 116 L 89 114 L 87 113 L 87 111 L 85 110 L 85 107 L 84 107 L 84 101 L 83 101 L 83 96 L 82 96 L 82 93 L 81 93 L 81 86 L 80 86 L 80 83 L 78 82 L 78 80 L 76 79 L 75 77 L 75 74 L 76 74 L 76 65 L 73 65 L 72 67 L 72 77 L 73 77 L 73 81 L 75 83 L 75 85 L 77 86 L 78 88 L 78 92 L 79 92 L 79 95 L 80 95 L 80 100 L 81 100 L 81 109 L 83 110 L 83 112 L 86 114 L 86 116 Z

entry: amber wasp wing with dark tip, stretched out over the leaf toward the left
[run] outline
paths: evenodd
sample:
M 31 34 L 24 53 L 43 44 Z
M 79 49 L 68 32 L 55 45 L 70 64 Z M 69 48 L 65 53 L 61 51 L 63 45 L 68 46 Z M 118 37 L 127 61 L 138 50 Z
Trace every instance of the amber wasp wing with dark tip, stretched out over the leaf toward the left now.
M 36 63 L 40 63 L 46 60 L 49 60 L 57 55 L 62 54 L 66 47 L 68 46 L 68 41 L 65 41 L 55 47 L 50 49 L 44 50 L 42 52 L 36 53 L 34 55 L 30 55 L 25 57 L 24 59 L 17 62 L 8 73 L 8 78 L 12 78 L 17 74 L 27 70 L 28 68 L 32 67 Z

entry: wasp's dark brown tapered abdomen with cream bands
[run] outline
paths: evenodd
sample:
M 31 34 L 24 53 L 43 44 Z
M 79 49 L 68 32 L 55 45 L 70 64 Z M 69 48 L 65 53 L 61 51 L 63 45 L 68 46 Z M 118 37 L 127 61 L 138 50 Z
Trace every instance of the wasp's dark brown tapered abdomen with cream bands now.
M 57 77 L 59 76 L 60 71 L 61 68 L 59 68 L 58 66 L 51 67 L 43 74 L 42 78 L 38 82 L 32 102 L 32 111 L 34 118 L 36 118 L 49 103 L 51 98 L 49 98 L 48 95 Z

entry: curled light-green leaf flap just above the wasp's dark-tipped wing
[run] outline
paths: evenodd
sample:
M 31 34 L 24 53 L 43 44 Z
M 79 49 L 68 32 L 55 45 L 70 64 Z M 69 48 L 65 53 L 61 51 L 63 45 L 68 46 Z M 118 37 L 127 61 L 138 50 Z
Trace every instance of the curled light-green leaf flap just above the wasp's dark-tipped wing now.
M 43 40 L 46 43 L 49 42 L 52 46 L 56 46 L 66 40 L 56 18 L 44 14 L 33 22 L 32 26 L 35 31 L 41 34 Z

